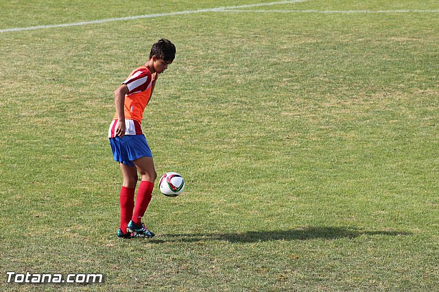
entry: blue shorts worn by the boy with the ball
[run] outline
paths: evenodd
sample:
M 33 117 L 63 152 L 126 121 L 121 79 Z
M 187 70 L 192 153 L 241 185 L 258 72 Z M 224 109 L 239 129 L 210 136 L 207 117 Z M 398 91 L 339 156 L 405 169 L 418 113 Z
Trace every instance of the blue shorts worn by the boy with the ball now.
M 152 157 L 150 146 L 143 134 L 110 138 L 110 146 L 115 161 L 130 167 L 134 167 L 132 160 Z

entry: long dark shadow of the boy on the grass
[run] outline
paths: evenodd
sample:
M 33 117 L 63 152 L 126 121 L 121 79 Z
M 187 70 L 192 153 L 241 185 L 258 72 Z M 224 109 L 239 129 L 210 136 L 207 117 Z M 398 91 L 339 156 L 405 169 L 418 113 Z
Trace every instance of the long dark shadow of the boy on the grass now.
M 198 241 L 228 241 L 231 243 L 256 243 L 261 241 L 306 241 L 310 239 L 353 239 L 357 236 L 399 236 L 410 235 L 410 232 L 400 231 L 364 231 L 355 228 L 338 227 L 305 227 L 292 230 L 249 231 L 236 233 L 194 233 L 194 234 L 161 234 L 152 242 L 198 242 Z

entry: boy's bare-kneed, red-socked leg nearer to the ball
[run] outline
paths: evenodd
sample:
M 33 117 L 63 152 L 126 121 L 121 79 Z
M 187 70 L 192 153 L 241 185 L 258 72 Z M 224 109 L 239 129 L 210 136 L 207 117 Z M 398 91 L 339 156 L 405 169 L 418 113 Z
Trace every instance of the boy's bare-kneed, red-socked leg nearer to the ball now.
M 154 181 L 156 180 L 157 175 L 152 157 L 142 157 L 133 162 L 137 171 L 141 174 L 141 183 L 139 185 L 139 190 L 137 190 L 136 204 L 132 215 L 132 221 L 136 225 L 139 225 L 141 224 L 142 217 L 145 215 L 145 211 L 150 204 L 152 189 L 154 188 Z

